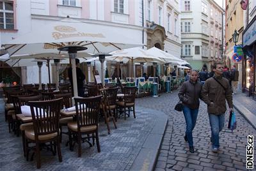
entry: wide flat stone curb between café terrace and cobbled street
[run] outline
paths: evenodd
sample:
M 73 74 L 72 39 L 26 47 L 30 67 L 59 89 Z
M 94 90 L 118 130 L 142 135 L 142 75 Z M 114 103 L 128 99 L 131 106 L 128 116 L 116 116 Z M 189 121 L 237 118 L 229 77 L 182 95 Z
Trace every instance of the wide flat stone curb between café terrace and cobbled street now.
M 156 110 L 156 122 L 130 170 L 154 170 L 168 123 L 168 116 Z

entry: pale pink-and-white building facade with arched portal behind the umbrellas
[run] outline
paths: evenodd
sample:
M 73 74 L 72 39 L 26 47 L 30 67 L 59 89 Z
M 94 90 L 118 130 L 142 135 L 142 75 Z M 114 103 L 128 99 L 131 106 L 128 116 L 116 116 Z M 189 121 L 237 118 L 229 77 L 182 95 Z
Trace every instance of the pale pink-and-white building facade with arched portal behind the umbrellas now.
M 69 15 L 70 18 L 95 24 L 95 27 L 108 25 L 113 27 L 113 30 L 122 27 L 123 34 L 147 45 L 145 48 L 156 46 L 180 57 L 179 7 L 178 0 L 1 1 L 0 13 L 3 14 L 3 23 L 0 23 L 0 43 L 40 29 L 45 24 Z M 111 70 L 111 66 L 107 66 Z M 86 70 L 87 66 L 84 67 Z M 28 66 L 21 70 L 23 84 L 38 82 L 37 66 Z M 47 83 L 47 76 L 44 75 L 47 73 L 46 67 L 43 66 L 43 70 L 45 71 L 42 71 L 42 82 Z M 126 71 L 128 76 L 129 67 Z

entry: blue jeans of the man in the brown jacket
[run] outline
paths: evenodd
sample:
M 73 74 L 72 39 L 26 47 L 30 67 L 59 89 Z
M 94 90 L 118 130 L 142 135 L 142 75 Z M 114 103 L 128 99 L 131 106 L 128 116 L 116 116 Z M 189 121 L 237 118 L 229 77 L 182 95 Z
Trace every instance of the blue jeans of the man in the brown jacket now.
M 209 114 L 209 120 L 211 124 L 212 131 L 212 148 L 219 148 L 219 133 L 224 127 L 225 114 L 215 115 Z

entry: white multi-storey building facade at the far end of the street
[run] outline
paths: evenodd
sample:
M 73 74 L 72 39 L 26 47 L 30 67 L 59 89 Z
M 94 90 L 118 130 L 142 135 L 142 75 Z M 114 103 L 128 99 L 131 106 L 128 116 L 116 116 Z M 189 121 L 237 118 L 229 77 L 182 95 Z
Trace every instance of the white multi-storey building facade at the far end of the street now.
M 206 65 L 210 70 L 212 61 L 220 59 L 224 10 L 213 0 L 182 0 L 180 6 L 182 59 L 194 69 Z

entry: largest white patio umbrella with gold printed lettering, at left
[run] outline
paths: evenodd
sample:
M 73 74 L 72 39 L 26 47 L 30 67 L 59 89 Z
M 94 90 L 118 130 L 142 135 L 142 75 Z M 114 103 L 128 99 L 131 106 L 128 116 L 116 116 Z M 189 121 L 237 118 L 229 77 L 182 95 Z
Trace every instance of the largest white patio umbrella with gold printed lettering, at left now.
M 111 52 L 116 49 L 141 45 L 125 36 L 121 27 L 99 26 L 78 20 L 63 19 L 51 22 L 43 27 L 23 34 L 13 40 L 2 42 L 10 56 L 15 54 L 32 54 L 59 52 L 57 48 L 67 45 L 86 47 L 86 52 Z M 75 58 L 77 50 L 69 52 L 72 63 L 74 96 L 77 96 Z

